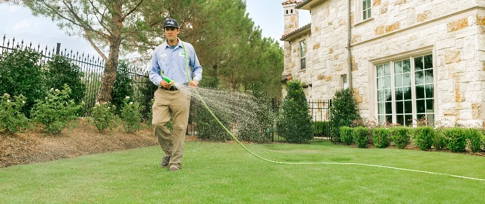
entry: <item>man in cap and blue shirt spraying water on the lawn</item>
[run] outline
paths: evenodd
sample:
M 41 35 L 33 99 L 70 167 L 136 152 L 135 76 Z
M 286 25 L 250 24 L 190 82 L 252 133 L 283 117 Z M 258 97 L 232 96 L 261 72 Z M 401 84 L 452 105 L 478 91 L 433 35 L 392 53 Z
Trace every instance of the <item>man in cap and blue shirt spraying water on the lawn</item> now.
M 160 166 L 169 166 L 169 171 L 177 171 L 182 165 L 190 96 L 184 95 L 173 83 L 162 80 L 162 75 L 178 84 L 197 87 L 202 79 L 202 67 L 193 46 L 177 37 L 180 33 L 177 20 L 165 20 L 163 28 L 167 40 L 155 48 L 148 67 L 150 80 L 159 86 L 154 96 L 152 124 L 164 152 Z M 186 59 L 189 61 L 188 67 Z M 166 126 L 171 115 L 174 118 L 172 134 Z

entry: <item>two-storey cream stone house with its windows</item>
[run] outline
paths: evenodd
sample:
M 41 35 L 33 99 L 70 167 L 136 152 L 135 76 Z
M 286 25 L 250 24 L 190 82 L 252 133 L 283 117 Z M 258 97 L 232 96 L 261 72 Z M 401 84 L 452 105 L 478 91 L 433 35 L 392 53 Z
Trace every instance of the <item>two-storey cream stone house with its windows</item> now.
M 288 0 L 282 6 L 282 77 L 304 82 L 307 99 L 330 99 L 350 86 L 361 116 L 380 123 L 409 125 L 426 116 L 431 124 L 482 124 L 485 0 Z M 311 15 L 303 27 L 300 9 Z

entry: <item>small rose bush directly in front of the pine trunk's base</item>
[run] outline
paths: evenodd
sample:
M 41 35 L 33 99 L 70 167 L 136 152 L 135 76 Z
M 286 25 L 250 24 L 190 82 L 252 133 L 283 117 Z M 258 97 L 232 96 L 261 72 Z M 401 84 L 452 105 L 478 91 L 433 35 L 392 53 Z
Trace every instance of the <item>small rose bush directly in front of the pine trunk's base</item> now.
M 96 103 L 91 108 L 91 116 L 88 121 L 96 126 L 101 134 L 104 134 L 107 128 L 112 130 L 113 127 L 118 125 L 118 117 L 114 114 L 115 108 L 115 106 L 106 102 L 103 104 Z

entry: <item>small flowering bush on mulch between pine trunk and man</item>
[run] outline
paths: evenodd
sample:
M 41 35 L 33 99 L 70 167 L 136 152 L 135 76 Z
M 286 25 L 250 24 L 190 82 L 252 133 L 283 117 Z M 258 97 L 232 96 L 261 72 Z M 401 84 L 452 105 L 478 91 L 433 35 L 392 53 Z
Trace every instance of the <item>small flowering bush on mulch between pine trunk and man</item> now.
M 123 108 L 121 109 L 120 119 L 123 122 L 123 128 L 127 133 L 133 133 L 140 130 L 141 122 L 140 104 L 130 101 L 130 96 L 126 96 Z

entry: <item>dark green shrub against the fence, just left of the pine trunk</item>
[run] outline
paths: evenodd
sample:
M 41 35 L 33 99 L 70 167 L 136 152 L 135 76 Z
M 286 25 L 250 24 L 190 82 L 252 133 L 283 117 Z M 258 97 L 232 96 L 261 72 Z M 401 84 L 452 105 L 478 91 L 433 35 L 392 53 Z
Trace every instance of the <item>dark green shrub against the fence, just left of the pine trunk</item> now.
M 67 84 L 71 89 L 69 98 L 74 100 L 74 103 L 79 104 L 84 98 L 86 85 L 81 81 L 84 72 L 71 59 L 62 55 L 55 55 L 45 64 L 44 74 L 45 87 L 62 89 Z

